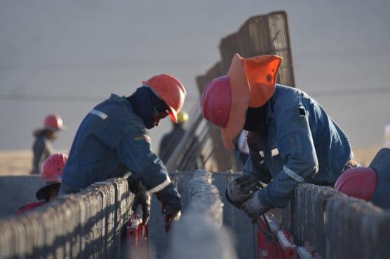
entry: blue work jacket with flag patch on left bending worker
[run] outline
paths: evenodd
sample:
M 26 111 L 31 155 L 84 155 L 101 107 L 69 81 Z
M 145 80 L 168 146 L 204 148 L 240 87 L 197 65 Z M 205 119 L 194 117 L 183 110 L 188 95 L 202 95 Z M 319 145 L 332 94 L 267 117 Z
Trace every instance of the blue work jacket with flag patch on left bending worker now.
M 130 172 L 163 205 L 180 204 L 166 167 L 152 152 L 149 132 L 126 97 L 112 94 L 83 119 L 63 171 L 61 189 L 73 193 Z

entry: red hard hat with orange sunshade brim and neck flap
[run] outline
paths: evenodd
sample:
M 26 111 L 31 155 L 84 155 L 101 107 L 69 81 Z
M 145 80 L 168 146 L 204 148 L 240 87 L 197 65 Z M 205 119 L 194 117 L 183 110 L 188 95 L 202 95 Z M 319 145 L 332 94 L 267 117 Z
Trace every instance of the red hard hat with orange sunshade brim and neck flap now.
M 261 107 L 275 93 L 282 57 L 243 58 L 235 54 L 226 76 L 211 80 L 202 94 L 203 116 L 222 127 L 222 141 L 234 149 L 233 139 L 243 130 L 248 107 Z

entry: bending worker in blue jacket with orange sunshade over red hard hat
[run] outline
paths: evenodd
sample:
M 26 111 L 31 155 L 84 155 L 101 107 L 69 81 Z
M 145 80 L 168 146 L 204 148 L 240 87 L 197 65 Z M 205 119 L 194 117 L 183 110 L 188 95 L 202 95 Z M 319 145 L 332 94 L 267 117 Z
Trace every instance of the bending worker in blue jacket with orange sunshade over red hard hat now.
M 332 186 L 344 168 L 358 165 L 347 136 L 318 102 L 276 85 L 281 61 L 236 54 L 227 76 L 208 83 L 201 99 L 203 116 L 222 128 L 226 148 L 234 149 L 241 130 L 249 132 L 249 158 L 243 175 L 229 183 L 227 198 L 253 222 L 287 206 L 297 183 Z

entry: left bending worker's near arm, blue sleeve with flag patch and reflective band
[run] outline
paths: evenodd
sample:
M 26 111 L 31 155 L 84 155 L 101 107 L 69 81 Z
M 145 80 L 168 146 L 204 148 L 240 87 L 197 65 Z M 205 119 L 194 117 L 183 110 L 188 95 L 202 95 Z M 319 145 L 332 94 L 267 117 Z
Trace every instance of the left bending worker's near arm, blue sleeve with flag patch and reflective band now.
M 116 153 L 136 179 L 140 179 L 151 193 L 155 193 L 165 210 L 180 210 L 180 195 L 170 182 L 167 169 L 152 152 L 147 130 L 131 128 L 121 137 Z

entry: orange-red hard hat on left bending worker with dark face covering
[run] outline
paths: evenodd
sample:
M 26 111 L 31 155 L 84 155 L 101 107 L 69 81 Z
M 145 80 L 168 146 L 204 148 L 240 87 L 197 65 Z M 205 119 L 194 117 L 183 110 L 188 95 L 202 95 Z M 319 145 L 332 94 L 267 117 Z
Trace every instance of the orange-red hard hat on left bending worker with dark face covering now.
M 153 76 L 145 83 L 166 103 L 170 118 L 177 123 L 177 113 L 182 109 L 186 95 L 184 85 L 177 78 L 167 74 Z

